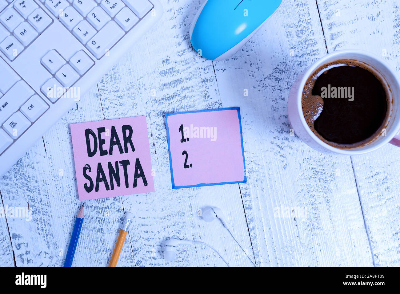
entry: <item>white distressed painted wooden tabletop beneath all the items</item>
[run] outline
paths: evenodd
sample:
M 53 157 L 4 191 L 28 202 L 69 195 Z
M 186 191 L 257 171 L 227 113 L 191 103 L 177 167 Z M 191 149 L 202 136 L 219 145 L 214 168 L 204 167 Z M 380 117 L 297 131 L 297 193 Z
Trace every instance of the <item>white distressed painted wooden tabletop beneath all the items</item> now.
M 234 235 L 262 266 L 400 265 L 400 149 L 327 156 L 290 136 L 287 97 L 296 76 L 334 50 L 383 56 L 400 72 L 399 0 L 284 0 L 233 58 L 196 56 L 188 30 L 203 0 L 162 0 L 162 20 L 0 179 L 0 265 L 61 266 L 80 202 L 71 123 L 146 115 L 155 193 L 86 202 L 74 265 L 105 266 L 124 211 L 135 215 L 120 266 L 223 266 L 250 262 L 199 208 L 222 208 Z M 248 89 L 248 97 L 244 90 Z M 171 189 L 165 113 L 240 106 L 248 183 Z M 282 213 L 283 212 L 283 213 Z

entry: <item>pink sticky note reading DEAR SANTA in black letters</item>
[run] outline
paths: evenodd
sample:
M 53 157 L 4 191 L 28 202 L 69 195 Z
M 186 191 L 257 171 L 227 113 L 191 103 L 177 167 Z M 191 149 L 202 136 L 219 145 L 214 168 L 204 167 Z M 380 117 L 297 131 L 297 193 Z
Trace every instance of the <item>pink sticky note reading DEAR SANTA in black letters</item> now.
M 71 135 L 79 200 L 154 192 L 146 116 L 72 124 Z

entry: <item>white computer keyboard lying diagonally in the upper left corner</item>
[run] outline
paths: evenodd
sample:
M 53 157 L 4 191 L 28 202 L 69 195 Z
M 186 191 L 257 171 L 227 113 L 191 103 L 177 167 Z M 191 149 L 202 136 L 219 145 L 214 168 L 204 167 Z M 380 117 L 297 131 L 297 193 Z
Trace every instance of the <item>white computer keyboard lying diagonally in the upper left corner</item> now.
M 0 0 L 0 176 L 162 12 L 158 0 Z

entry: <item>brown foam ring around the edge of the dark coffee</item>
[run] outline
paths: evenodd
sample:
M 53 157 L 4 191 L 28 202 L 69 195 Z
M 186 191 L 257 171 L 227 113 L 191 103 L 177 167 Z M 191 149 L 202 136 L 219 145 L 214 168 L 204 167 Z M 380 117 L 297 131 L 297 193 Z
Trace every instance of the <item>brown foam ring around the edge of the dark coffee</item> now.
M 322 109 L 324 107 L 324 100 L 320 96 L 312 95 L 312 89 L 314 88 L 314 85 L 318 77 L 326 73 L 330 68 L 335 66 L 358 66 L 360 68 L 363 68 L 364 70 L 368 70 L 368 72 L 372 73 L 382 83 L 383 88 L 385 89 L 386 92 L 386 101 L 388 103 L 388 110 L 386 113 L 386 117 L 382 123 L 382 126 L 371 137 L 363 141 L 360 141 L 358 143 L 339 144 L 328 141 L 324 137 L 322 137 L 314 128 L 314 121 L 318 118 L 318 116 L 322 112 Z M 314 135 L 318 137 L 318 139 L 320 139 L 321 141 L 332 147 L 339 149 L 353 149 L 357 147 L 363 147 L 376 141 L 381 136 L 382 131 L 386 129 L 389 125 L 389 121 L 392 116 L 393 103 L 394 103 L 393 95 L 390 86 L 384 80 L 384 78 L 380 74 L 378 74 L 378 70 L 376 70 L 372 66 L 369 66 L 365 62 L 352 59 L 340 59 L 320 66 L 317 70 L 315 70 L 312 73 L 312 75 L 310 75 L 310 77 L 308 77 L 306 84 L 304 85 L 302 94 L 302 111 L 308 127 L 310 127 L 310 129 L 312 130 Z

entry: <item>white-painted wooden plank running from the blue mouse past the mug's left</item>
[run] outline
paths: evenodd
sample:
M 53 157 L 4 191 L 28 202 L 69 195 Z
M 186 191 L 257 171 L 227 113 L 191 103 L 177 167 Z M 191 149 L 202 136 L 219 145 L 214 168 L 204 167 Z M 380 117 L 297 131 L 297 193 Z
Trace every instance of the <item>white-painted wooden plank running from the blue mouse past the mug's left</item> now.
M 242 111 L 248 183 L 240 189 L 262 265 L 372 265 L 350 157 L 290 136 L 290 87 L 325 54 L 316 2 L 296 0 L 233 58 L 214 62 L 223 106 Z

